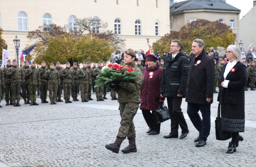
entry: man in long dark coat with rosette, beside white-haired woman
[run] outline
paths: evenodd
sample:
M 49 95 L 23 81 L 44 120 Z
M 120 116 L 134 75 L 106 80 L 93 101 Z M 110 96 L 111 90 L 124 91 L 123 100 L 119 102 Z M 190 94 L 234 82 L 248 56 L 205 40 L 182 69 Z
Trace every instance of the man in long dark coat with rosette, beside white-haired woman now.
M 206 145 L 211 128 L 211 103 L 215 70 L 213 59 L 204 51 L 204 41 L 195 39 L 192 43 L 192 60 L 189 67 L 189 82 L 187 86 L 186 102 L 187 114 L 199 131 L 199 136 L 194 140 L 196 147 Z M 202 113 L 202 119 L 198 111 Z

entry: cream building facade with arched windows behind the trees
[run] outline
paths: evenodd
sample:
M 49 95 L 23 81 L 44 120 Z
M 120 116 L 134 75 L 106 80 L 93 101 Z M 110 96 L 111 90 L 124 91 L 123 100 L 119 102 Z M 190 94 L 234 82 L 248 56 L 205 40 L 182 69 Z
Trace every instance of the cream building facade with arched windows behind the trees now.
M 75 29 L 76 20 L 87 17 L 108 23 L 106 29 L 134 50 L 147 50 L 147 38 L 152 44 L 170 30 L 168 0 L 0 0 L 0 27 L 10 59 L 15 58 L 15 35 L 23 49 L 35 42 L 26 38 L 28 31 L 52 23 Z

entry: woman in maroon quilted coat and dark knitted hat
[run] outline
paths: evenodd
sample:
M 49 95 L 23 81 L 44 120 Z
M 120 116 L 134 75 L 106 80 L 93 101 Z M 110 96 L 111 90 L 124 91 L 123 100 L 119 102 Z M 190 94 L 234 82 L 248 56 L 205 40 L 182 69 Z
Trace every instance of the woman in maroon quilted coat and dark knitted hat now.
M 143 117 L 148 124 L 148 135 L 160 133 L 160 123 L 155 121 L 155 110 L 161 105 L 160 100 L 160 82 L 163 69 L 160 68 L 158 58 L 153 54 L 147 55 L 147 66 L 143 71 L 143 83 L 141 85 L 141 106 Z M 150 113 L 152 111 L 152 113 Z

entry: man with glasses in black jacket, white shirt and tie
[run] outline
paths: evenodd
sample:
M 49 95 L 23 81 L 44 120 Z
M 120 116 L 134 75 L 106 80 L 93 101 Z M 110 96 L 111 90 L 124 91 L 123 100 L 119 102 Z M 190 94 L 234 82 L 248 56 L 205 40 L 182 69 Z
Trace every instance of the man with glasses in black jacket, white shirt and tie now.
M 179 40 L 171 41 L 171 54 L 165 59 L 160 85 L 160 96 L 167 97 L 169 114 L 171 117 L 171 133 L 164 138 L 178 138 L 179 125 L 182 129 L 180 139 L 189 133 L 187 123 L 180 105 L 186 95 L 189 60 L 181 51 Z

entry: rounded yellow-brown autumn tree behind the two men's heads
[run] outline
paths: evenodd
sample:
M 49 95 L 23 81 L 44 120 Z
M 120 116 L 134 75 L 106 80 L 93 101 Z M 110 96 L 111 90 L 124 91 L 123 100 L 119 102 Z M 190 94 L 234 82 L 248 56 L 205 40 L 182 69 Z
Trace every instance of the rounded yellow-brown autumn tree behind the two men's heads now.
M 157 42 L 153 43 L 154 50 L 163 52 L 170 49 L 171 40 L 178 39 L 182 42 L 182 50 L 191 50 L 191 44 L 194 39 L 200 38 L 204 40 L 206 51 L 210 51 L 210 47 L 228 47 L 234 44 L 236 34 L 232 32 L 230 26 L 220 23 L 219 21 L 211 22 L 209 20 L 198 19 L 184 25 L 180 31 L 171 31 L 165 34 Z

